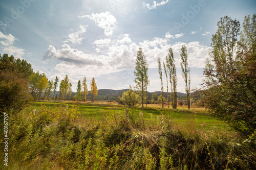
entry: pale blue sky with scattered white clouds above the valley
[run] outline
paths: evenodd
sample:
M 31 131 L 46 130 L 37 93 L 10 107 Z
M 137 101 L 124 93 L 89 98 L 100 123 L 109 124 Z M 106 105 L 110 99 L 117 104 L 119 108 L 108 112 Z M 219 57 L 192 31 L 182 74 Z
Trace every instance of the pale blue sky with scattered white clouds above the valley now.
M 217 22 L 228 15 L 242 25 L 246 15 L 256 13 L 256 1 L 2 0 L 0 11 L 0 54 L 27 60 L 48 80 L 68 75 L 73 91 L 84 76 L 88 85 L 94 77 L 98 89 L 135 85 L 141 47 L 149 68 L 147 90 L 161 90 L 157 58 L 165 62 L 172 48 L 177 91 L 185 92 L 182 45 L 187 48 L 190 86 L 200 88 Z M 166 91 L 165 75 L 163 83 Z

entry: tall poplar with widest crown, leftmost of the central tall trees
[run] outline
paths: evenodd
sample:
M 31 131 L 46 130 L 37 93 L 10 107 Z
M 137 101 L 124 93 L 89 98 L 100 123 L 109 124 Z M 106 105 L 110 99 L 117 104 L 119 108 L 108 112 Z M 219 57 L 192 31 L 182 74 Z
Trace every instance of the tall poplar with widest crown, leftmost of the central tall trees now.
M 141 92 L 141 104 L 143 109 L 143 103 L 144 103 L 144 96 L 146 87 L 150 84 L 150 81 L 148 80 L 147 75 L 148 65 L 146 62 L 146 58 L 142 52 L 142 49 L 139 48 L 139 51 L 137 53 L 137 59 L 136 59 L 136 67 L 134 71 L 134 82 L 135 87 Z

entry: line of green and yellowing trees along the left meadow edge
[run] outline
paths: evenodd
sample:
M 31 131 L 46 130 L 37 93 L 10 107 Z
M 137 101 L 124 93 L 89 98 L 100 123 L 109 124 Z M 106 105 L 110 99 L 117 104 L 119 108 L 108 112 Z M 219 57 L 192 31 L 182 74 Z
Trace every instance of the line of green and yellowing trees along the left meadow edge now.
M 72 98 L 72 84 L 68 75 L 59 82 L 48 80 L 45 73 L 34 72 L 31 64 L 26 60 L 15 59 L 14 56 L 0 54 L 0 111 L 10 112 L 21 110 L 31 101 L 45 99 L 48 100 L 53 93 L 53 100 L 67 100 Z M 98 94 L 96 81 L 91 82 L 91 101 L 94 102 Z M 59 87 L 58 96 L 56 95 Z M 87 101 L 88 87 L 87 79 L 83 78 L 77 85 L 77 92 L 74 100 Z

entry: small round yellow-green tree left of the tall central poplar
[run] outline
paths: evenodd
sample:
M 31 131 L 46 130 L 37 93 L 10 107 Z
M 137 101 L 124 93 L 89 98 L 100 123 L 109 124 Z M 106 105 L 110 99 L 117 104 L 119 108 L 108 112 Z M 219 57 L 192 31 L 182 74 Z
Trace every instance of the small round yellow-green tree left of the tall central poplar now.
M 132 90 L 132 86 L 130 86 L 128 91 L 123 92 L 122 98 L 120 100 L 121 103 L 124 103 L 126 106 L 134 108 L 139 101 L 139 95 L 136 94 L 135 91 Z

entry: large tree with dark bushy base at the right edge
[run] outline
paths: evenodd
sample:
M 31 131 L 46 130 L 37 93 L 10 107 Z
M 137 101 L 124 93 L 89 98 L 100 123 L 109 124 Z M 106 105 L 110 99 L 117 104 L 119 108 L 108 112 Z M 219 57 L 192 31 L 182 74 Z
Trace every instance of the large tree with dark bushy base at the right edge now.
M 224 16 L 212 36 L 212 51 L 204 69 L 203 100 L 209 112 L 234 130 L 256 130 L 256 15 L 240 23 Z

